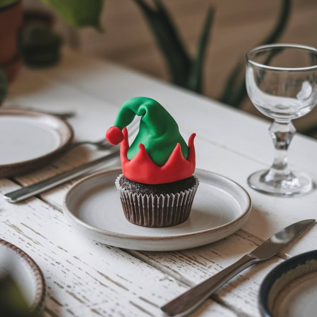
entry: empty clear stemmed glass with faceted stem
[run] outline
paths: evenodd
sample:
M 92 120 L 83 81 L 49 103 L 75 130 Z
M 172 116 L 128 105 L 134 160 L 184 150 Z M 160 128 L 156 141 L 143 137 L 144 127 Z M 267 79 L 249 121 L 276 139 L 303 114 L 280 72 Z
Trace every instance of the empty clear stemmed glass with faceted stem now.
M 248 184 L 276 196 L 306 193 L 313 188 L 312 179 L 289 169 L 287 149 L 296 131 L 291 120 L 304 116 L 317 103 L 317 49 L 269 44 L 250 50 L 246 58 L 247 92 L 254 106 L 274 119 L 269 134 L 275 146 L 273 165 L 251 174 Z

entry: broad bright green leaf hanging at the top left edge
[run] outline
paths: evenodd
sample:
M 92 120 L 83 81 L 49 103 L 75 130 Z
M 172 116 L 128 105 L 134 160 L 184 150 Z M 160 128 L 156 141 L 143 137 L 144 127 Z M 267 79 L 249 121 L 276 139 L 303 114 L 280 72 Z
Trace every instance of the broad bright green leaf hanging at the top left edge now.
M 92 26 L 101 30 L 103 0 L 42 0 L 49 4 L 70 26 Z

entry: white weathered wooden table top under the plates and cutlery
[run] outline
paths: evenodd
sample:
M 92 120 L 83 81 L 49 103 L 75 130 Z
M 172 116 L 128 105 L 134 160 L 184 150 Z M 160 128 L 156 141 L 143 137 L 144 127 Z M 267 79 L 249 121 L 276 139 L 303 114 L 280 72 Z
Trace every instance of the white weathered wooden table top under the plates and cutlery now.
M 232 178 L 251 196 L 253 208 L 242 230 L 226 239 L 185 251 L 139 252 L 87 241 L 62 213 L 65 184 L 25 203 L 0 197 L 0 236 L 39 264 L 48 285 L 45 316 L 160 316 L 159 306 L 254 249 L 290 223 L 317 216 L 316 191 L 277 198 L 248 188 L 247 176 L 268 167 L 273 145 L 269 123 L 202 96 L 78 53 L 65 52 L 58 67 L 23 70 L 10 87 L 7 104 L 42 110 L 75 109 L 76 140 L 101 139 L 121 103 L 149 96 L 167 107 L 186 139 L 197 133 L 197 167 Z M 0 179 L 6 193 L 104 155 L 81 146 L 48 167 L 14 179 Z M 290 146 L 293 168 L 317 181 L 317 142 L 297 134 Z M 119 160 L 107 167 L 119 165 Z M 276 264 L 315 249 L 312 226 L 272 260 L 244 271 L 221 288 L 193 316 L 259 316 L 260 283 Z

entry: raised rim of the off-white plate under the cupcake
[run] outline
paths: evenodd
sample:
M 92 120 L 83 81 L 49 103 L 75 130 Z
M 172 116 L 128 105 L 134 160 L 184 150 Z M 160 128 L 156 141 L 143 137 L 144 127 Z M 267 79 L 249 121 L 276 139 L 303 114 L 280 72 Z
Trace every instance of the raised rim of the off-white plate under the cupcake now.
M 242 190 L 244 192 L 244 194 L 247 197 L 247 206 L 245 208 L 245 210 L 241 213 L 241 215 L 239 215 L 237 218 L 235 218 L 234 220 L 231 220 L 228 223 L 224 223 L 221 226 L 218 227 L 214 227 L 214 228 L 210 228 L 210 229 L 205 229 L 205 230 L 200 230 L 200 231 L 195 231 L 195 232 L 191 232 L 191 233 L 182 233 L 182 234 L 177 234 L 177 235 L 170 235 L 170 236 L 140 236 L 140 235 L 129 235 L 126 233 L 116 233 L 113 231 L 108 231 L 105 229 L 101 229 L 101 228 L 97 228 L 94 227 L 88 223 L 85 223 L 84 221 L 82 221 L 80 218 L 76 217 L 68 208 L 67 206 L 67 199 L 69 197 L 69 195 L 71 194 L 72 191 L 74 191 L 74 189 L 76 187 L 78 187 L 79 185 L 81 185 L 82 183 L 86 182 L 88 179 L 90 178 L 94 178 L 96 176 L 100 176 L 102 174 L 107 174 L 110 172 L 122 172 L 121 168 L 115 168 L 115 169 L 107 169 L 105 171 L 99 171 L 99 172 L 95 172 L 92 175 L 88 175 L 85 178 L 82 178 L 81 180 L 79 180 L 78 182 L 76 182 L 74 185 L 72 185 L 72 187 L 66 192 L 64 198 L 63 198 L 63 210 L 64 212 L 66 212 L 68 214 L 69 217 L 71 217 L 75 222 L 79 223 L 80 225 L 82 225 L 83 227 L 89 229 L 89 230 L 94 230 L 95 232 L 99 232 L 101 234 L 107 235 L 107 236 L 111 236 L 113 238 L 129 238 L 129 239 L 133 239 L 133 240 L 142 240 L 142 241 L 153 241 L 153 240 L 171 240 L 171 239 L 178 239 L 178 238 L 182 238 L 182 237 L 191 237 L 191 236 L 197 236 L 199 234 L 204 234 L 206 232 L 215 232 L 217 230 L 221 230 L 224 229 L 228 226 L 234 225 L 235 223 L 239 223 L 240 221 L 243 221 L 243 219 L 245 217 L 248 217 L 251 209 L 252 209 L 252 202 L 251 202 L 251 197 L 249 195 L 249 193 L 238 183 L 236 183 L 234 180 L 225 177 L 221 174 L 212 172 L 212 171 L 207 171 L 204 169 L 200 169 L 200 168 L 196 168 L 196 170 L 202 171 L 202 172 L 208 172 L 208 173 L 212 173 L 214 175 L 216 175 L 217 177 L 220 178 L 225 178 L 227 181 L 229 181 L 230 183 L 233 183 L 235 186 L 237 186 L 240 190 Z M 195 173 L 194 173 L 195 174 Z

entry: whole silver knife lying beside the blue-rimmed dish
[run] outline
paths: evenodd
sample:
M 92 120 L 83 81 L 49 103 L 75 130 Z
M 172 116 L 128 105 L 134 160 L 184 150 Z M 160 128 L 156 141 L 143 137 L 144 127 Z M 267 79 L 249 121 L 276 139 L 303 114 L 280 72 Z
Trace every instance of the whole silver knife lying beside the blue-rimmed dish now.
M 184 292 L 172 301 L 161 307 L 161 310 L 169 316 L 186 316 L 200 306 L 211 294 L 216 292 L 224 283 L 236 276 L 249 266 L 267 260 L 279 252 L 295 236 L 315 222 L 315 219 L 302 220 L 291 224 L 283 230 L 271 236 L 251 253 L 240 260 L 203 281 L 197 286 Z

